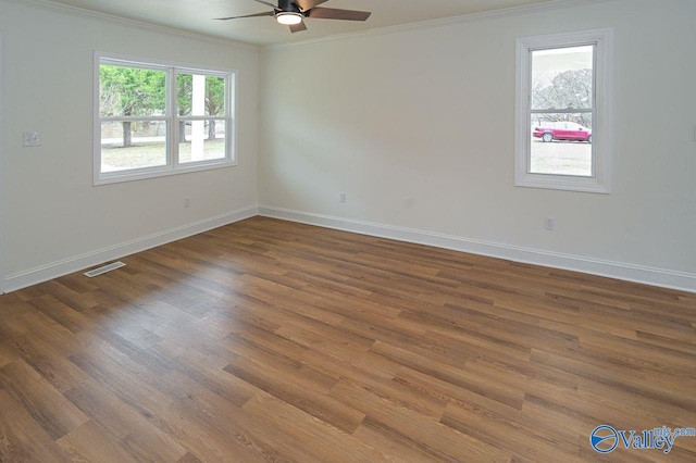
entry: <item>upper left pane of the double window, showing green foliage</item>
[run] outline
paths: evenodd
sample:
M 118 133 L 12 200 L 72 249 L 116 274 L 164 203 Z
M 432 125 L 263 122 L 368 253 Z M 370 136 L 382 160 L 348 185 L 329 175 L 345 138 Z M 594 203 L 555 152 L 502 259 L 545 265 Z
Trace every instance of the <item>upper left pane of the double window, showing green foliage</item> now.
M 99 66 L 99 115 L 153 117 L 165 113 L 166 73 Z

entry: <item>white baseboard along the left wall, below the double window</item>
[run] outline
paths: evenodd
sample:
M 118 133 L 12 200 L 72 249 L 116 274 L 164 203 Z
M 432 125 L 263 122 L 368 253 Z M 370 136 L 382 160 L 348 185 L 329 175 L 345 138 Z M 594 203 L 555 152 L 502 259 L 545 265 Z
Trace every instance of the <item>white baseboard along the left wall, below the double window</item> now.
M 257 207 L 249 207 L 237 211 L 221 214 L 203 221 L 186 224 L 181 227 L 160 232 L 144 238 L 134 239 L 132 241 L 122 242 L 120 245 L 110 246 L 92 252 L 87 252 L 74 258 L 64 259 L 62 261 L 52 262 L 40 267 L 30 268 L 13 275 L 8 275 L 2 281 L 2 289 L 5 292 L 26 288 L 38 283 L 42 283 L 52 278 L 78 272 L 88 267 L 102 264 L 108 261 L 121 259 L 146 249 L 156 248 L 167 242 L 176 241 L 192 235 L 208 232 L 224 225 L 239 222 L 245 218 L 258 215 Z

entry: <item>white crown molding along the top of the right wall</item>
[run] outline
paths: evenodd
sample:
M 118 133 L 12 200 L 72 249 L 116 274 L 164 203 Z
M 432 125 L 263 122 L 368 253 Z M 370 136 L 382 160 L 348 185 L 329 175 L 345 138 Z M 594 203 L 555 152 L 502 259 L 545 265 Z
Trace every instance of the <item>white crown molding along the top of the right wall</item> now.
M 462 14 L 459 16 L 444 17 L 440 20 L 420 21 L 418 23 L 400 24 L 397 26 L 380 27 L 376 29 L 360 30 L 347 34 L 337 34 L 327 37 L 320 37 L 309 40 L 295 41 L 290 43 L 272 43 L 261 46 L 261 50 L 277 50 L 284 48 L 302 47 L 307 45 L 315 45 L 334 40 L 343 40 L 348 38 L 361 38 L 366 36 L 378 36 L 385 34 L 403 33 L 410 30 L 422 30 L 435 27 L 444 27 L 449 25 L 475 23 L 480 21 L 495 20 L 499 17 L 519 16 L 522 14 L 538 13 L 549 10 L 559 10 L 573 7 L 586 7 L 596 3 L 607 3 L 614 0 L 550 0 L 544 3 L 527 4 L 522 7 L 511 7 L 494 11 L 484 11 L 481 13 Z

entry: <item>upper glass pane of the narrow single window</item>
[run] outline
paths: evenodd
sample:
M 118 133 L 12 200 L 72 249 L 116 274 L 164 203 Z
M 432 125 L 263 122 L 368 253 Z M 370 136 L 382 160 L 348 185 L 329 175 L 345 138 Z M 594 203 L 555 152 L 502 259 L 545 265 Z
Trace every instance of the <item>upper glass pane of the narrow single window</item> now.
M 594 47 L 532 52 L 532 109 L 592 109 Z

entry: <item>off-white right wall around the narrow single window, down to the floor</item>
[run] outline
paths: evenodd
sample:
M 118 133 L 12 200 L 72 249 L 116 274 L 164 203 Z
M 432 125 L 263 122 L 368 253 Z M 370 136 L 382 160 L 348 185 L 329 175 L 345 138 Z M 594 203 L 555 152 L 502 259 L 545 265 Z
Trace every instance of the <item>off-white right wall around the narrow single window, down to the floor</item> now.
M 266 49 L 260 211 L 696 291 L 694 17 L 616 0 Z M 515 38 L 602 27 L 612 195 L 513 187 Z

